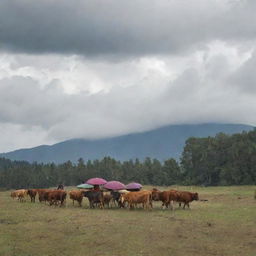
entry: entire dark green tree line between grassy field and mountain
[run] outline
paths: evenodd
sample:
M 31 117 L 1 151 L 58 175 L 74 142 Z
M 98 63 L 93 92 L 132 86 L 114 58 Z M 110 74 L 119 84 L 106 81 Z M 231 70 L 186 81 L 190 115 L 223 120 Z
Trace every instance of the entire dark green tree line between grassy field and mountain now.
M 241 134 L 217 134 L 215 137 L 189 138 L 180 161 L 117 161 L 82 158 L 77 163 L 28 163 L 0 158 L 0 187 L 5 189 L 78 185 L 91 177 L 136 181 L 142 184 L 242 185 L 256 183 L 256 129 Z

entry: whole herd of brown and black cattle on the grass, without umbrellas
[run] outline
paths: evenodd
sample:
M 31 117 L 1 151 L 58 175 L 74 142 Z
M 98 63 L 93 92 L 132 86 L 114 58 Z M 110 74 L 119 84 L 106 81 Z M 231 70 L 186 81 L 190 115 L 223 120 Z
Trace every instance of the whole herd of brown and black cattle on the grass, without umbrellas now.
M 19 189 L 11 192 L 11 197 L 24 202 L 27 196 L 30 197 L 31 202 L 35 202 L 38 195 L 39 202 L 49 203 L 49 205 L 63 206 L 66 203 L 67 194 L 74 202 L 77 201 L 79 206 L 82 206 L 84 197 L 87 197 L 90 203 L 90 208 L 100 207 L 113 207 L 129 209 L 137 208 L 141 205 L 144 209 L 152 209 L 153 201 L 161 201 L 162 207 L 173 208 L 174 202 L 179 203 L 179 207 L 183 203 L 183 209 L 193 200 L 199 200 L 198 193 L 188 191 L 168 190 L 159 191 L 156 188 L 152 190 L 143 191 L 96 191 L 96 190 L 72 190 L 67 192 L 65 190 L 51 190 L 51 189 Z

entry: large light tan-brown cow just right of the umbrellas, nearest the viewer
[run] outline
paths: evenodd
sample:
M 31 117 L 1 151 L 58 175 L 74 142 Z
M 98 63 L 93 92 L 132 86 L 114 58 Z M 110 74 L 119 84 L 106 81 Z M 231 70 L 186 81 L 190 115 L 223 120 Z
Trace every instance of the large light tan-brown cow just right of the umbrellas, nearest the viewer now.
M 144 209 L 150 209 L 152 208 L 152 192 L 136 191 L 121 194 L 120 201 L 123 205 L 127 202 L 130 209 L 133 209 L 137 204 L 142 204 Z

